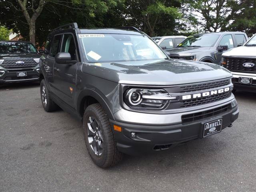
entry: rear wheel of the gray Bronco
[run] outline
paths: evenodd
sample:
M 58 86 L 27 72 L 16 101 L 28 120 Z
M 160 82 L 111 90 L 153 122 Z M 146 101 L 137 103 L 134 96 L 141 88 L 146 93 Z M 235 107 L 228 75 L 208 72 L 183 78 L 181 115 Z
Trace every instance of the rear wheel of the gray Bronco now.
M 50 92 L 44 79 L 40 82 L 40 94 L 44 110 L 47 112 L 52 112 L 58 109 L 58 105 L 51 99 Z

